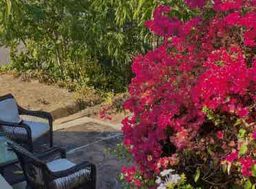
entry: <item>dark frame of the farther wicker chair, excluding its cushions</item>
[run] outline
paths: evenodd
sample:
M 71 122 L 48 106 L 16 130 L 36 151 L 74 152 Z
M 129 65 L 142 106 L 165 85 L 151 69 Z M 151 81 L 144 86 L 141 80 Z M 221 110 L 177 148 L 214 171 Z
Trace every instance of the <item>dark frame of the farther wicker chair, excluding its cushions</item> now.
M 11 94 L 4 95 L 4 96 L 0 97 L 0 101 L 6 100 L 6 99 L 14 99 L 14 97 Z M 48 132 L 50 134 L 49 135 L 50 136 L 50 147 L 52 147 L 53 146 L 53 139 L 52 139 L 53 138 L 53 129 L 52 129 L 53 118 L 52 118 L 52 115 L 50 113 L 42 112 L 42 111 L 25 110 L 20 105 L 18 105 L 18 103 L 17 103 L 17 107 L 19 110 L 19 115 L 27 115 L 27 116 L 32 116 L 32 117 L 36 117 L 36 118 L 47 119 L 48 124 L 50 125 L 50 131 Z M 5 126 L 9 126 L 9 127 L 22 127 L 23 129 L 25 129 L 25 131 L 27 132 L 27 140 L 25 142 L 23 141 L 23 143 L 28 145 L 30 151 L 34 150 L 31 129 L 28 125 L 26 125 L 23 122 L 10 123 L 10 122 L 1 121 L 1 120 L 0 120 L 0 125 L 5 125 Z M 17 142 L 19 142 L 19 140 Z

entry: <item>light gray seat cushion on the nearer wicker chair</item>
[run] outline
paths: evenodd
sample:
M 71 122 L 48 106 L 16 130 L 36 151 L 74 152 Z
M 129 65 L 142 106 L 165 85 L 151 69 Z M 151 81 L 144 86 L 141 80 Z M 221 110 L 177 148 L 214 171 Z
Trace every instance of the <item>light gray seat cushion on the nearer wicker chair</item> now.
M 75 166 L 75 165 L 76 164 L 73 164 L 72 162 L 66 159 L 58 159 L 58 160 L 54 160 L 52 162 L 47 163 L 47 167 L 52 172 L 65 171 L 66 169 L 72 168 L 72 166 Z

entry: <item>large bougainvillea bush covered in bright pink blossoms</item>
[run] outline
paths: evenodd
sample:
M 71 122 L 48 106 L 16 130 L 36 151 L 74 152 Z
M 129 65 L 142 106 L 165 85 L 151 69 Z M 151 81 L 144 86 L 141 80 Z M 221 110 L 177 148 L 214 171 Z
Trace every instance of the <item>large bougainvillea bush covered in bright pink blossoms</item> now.
M 146 23 L 163 42 L 132 65 L 122 131 L 136 168 L 122 175 L 137 188 L 179 188 L 161 183 L 167 170 L 191 188 L 253 188 L 256 1 L 184 2 L 198 15 L 160 5 Z

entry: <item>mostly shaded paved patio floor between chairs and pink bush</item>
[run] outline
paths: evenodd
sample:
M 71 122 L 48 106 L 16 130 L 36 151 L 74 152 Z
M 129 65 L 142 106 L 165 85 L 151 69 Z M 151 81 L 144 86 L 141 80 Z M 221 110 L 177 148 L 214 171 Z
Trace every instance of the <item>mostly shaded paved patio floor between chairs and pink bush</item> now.
M 118 175 L 122 166 L 131 163 L 120 161 L 105 151 L 122 141 L 122 133 L 106 125 L 85 123 L 54 131 L 54 145 L 67 150 L 67 159 L 78 164 L 85 160 L 97 167 L 98 189 L 120 189 Z

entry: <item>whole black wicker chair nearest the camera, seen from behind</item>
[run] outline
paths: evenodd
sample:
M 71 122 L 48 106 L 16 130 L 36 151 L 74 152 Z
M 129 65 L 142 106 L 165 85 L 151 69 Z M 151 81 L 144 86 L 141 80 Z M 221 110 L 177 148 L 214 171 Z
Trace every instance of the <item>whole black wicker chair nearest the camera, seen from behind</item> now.
M 13 142 L 8 145 L 17 154 L 28 188 L 33 189 L 95 189 L 96 166 L 89 162 L 73 164 L 65 159 L 64 149 L 53 147 L 39 155 L 33 155 Z M 60 155 L 61 159 L 49 162 L 49 157 Z

